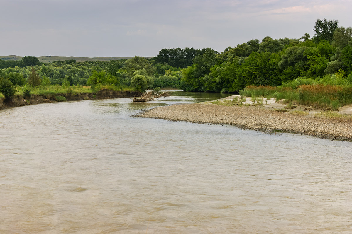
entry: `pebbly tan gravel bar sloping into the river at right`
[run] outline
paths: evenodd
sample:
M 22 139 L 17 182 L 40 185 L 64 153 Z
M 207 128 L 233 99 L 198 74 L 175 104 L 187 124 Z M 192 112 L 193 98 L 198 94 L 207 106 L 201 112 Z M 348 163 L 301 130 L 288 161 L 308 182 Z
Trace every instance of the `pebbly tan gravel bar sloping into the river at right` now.
M 201 106 L 206 107 L 209 110 L 203 111 L 202 108 L 199 108 Z M 231 121 L 231 119 L 228 119 L 228 110 L 230 110 L 230 108 L 240 110 L 236 112 L 237 121 Z M 341 128 L 341 125 L 346 126 L 346 128 L 351 126 L 351 121 L 346 123 L 345 120 L 339 119 L 297 116 L 255 106 L 220 106 L 205 105 L 202 103 L 178 104 L 144 110 L 142 113 L 139 113 L 135 116 L 164 119 L 168 121 L 185 121 L 197 124 L 226 124 L 235 126 L 240 129 L 260 131 L 266 134 L 284 132 L 290 134 L 314 136 L 323 139 L 341 140 L 348 142 L 352 141 L 351 129 Z M 206 120 L 204 118 L 206 118 Z M 270 119 L 270 121 L 262 121 L 263 118 Z M 261 121 L 259 121 L 259 119 Z M 290 123 L 280 126 L 280 124 L 287 119 L 289 119 Z M 339 125 L 340 130 L 337 128 L 338 132 L 329 132 L 329 128 L 331 128 L 331 126 L 335 126 L 336 124 Z M 323 129 L 321 128 L 322 126 Z M 344 135 L 341 131 L 350 131 L 351 134 Z

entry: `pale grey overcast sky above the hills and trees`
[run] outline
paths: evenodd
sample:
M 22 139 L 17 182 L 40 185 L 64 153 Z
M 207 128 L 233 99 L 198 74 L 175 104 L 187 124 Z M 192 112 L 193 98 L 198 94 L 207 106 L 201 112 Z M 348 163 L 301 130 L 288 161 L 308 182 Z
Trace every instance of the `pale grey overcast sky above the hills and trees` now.
M 0 55 L 156 56 L 352 26 L 351 0 L 0 0 Z

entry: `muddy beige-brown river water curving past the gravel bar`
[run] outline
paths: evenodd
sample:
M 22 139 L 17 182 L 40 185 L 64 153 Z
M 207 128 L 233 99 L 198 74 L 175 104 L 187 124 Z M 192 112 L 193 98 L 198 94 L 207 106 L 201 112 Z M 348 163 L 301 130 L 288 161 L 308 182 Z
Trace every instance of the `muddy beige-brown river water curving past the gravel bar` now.
M 217 97 L 1 110 L 0 233 L 351 233 L 351 142 L 131 117 Z

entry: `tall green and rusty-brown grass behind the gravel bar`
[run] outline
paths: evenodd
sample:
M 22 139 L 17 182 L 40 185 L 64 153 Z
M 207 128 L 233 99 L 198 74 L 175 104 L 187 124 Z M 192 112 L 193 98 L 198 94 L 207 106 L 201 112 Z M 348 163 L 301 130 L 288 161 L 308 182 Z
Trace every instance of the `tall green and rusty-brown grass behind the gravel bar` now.
M 286 103 L 296 101 L 303 105 L 314 105 L 317 108 L 337 110 L 352 103 L 352 85 L 303 84 L 296 89 L 289 86 L 247 86 L 244 90 L 247 97 L 285 99 Z

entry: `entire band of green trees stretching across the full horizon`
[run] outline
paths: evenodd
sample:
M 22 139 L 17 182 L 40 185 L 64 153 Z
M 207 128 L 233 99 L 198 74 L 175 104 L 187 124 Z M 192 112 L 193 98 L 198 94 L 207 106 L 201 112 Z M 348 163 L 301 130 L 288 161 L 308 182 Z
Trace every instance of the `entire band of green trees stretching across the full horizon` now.
M 142 90 L 180 87 L 187 91 L 238 92 L 247 85 L 278 86 L 297 78 L 351 83 L 352 28 L 339 27 L 338 20 L 318 19 L 313 30 L 313 38 L 308 33 L 299 39 L 265 37 L 229 46 L 221 53 L 211 48 L 163 48 L 152 59 L 135 56 L 50 64 L 25 56 L 19 61 L 0 60 L 0 71 L 2 79 L 14 86 L 107 84 Z M 32 81 L 36 74 L 39 83 Z

